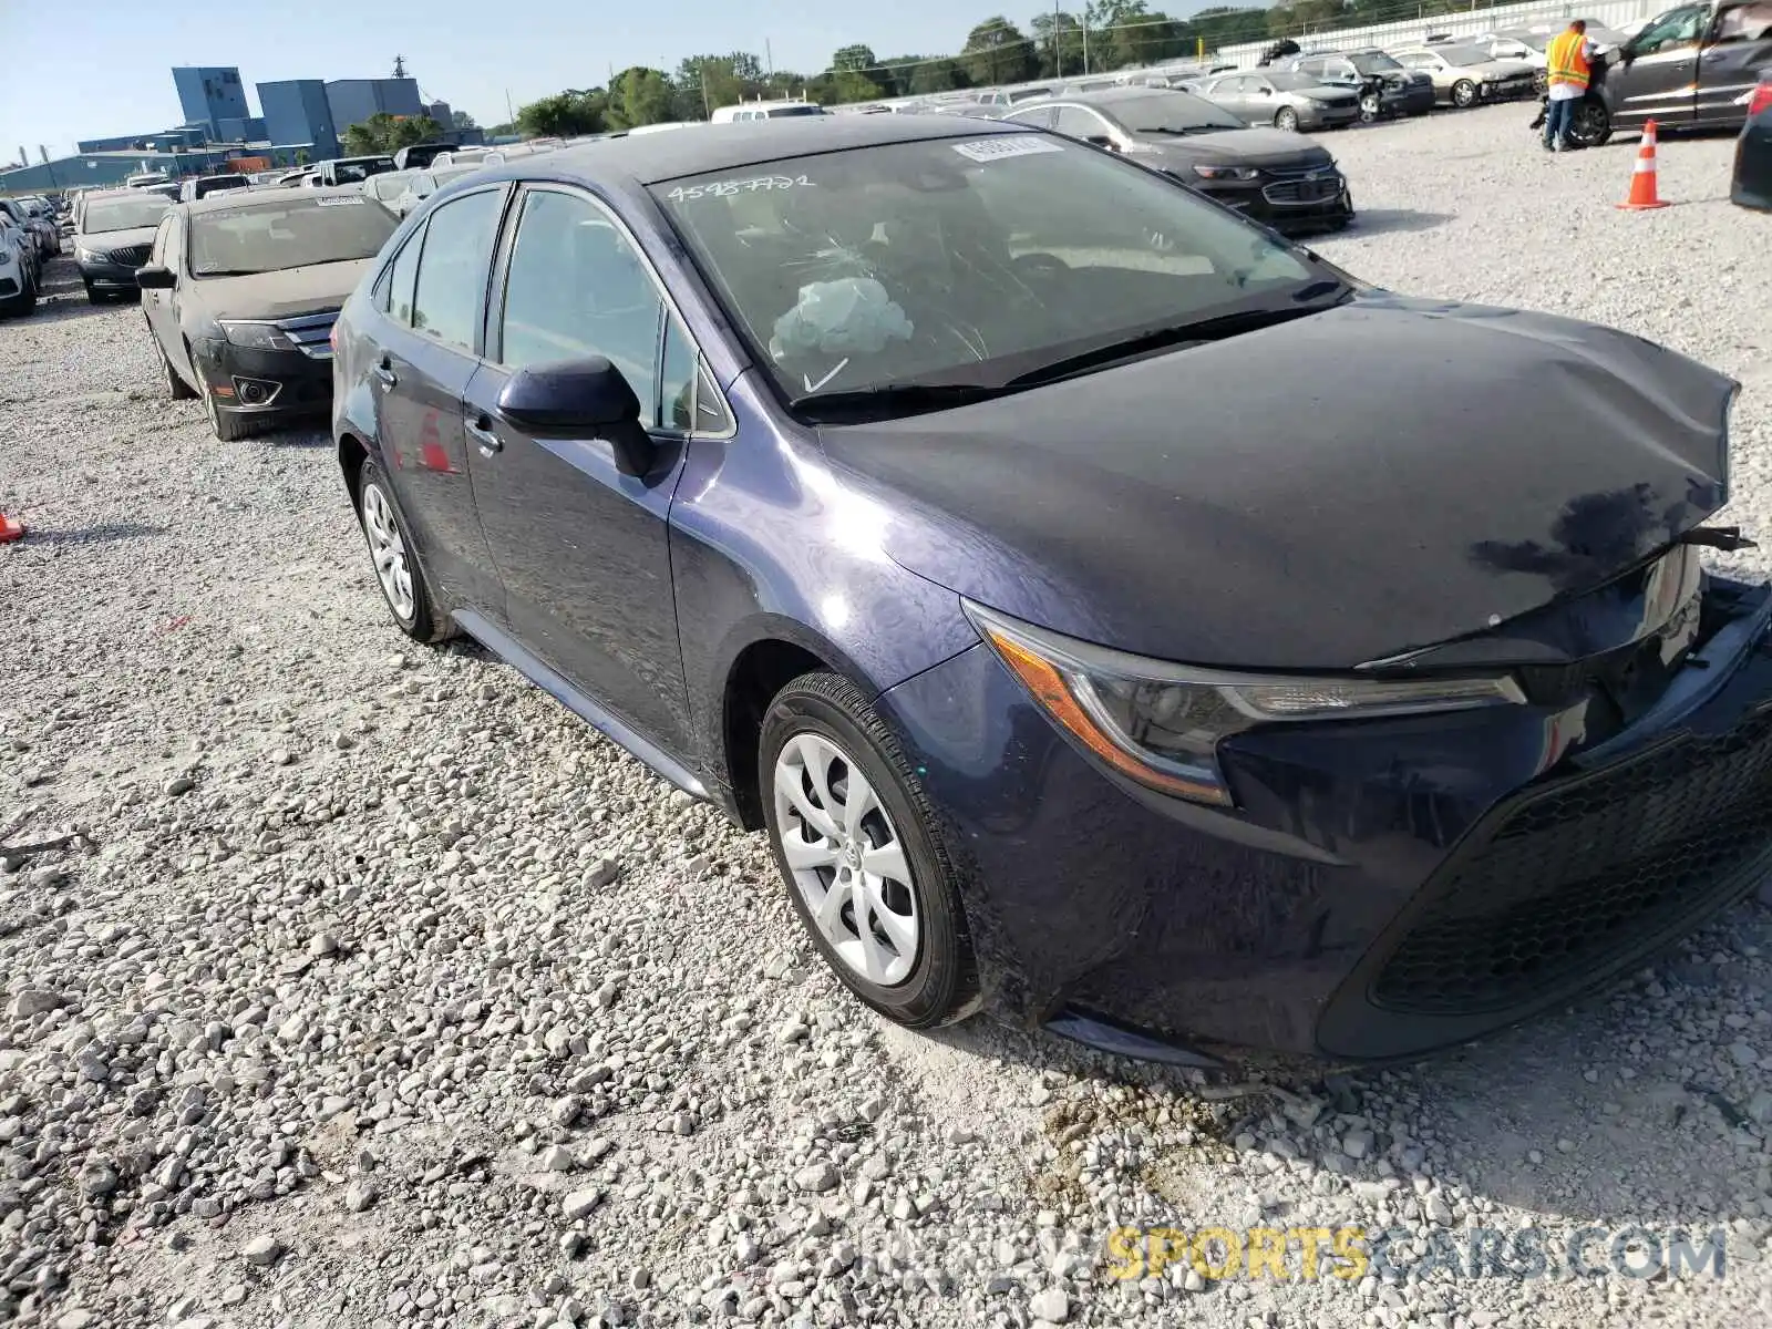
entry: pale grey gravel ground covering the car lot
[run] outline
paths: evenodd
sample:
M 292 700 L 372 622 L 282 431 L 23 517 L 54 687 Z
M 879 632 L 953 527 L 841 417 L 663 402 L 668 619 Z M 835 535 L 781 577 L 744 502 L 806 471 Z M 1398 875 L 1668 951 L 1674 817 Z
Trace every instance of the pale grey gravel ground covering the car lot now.
M 1620 213 L 1632 147 L 1549 158 L 1529 113 L 1329 136 L 1364 214 L 1322 250 L 1738 376 L 1729 516 L 1772 535 L 1772 218 L 1721 202 L 1733 142 L 1664 142 L 1678 206 Z M 0 324 L 0 509 L 34 528 L 0 548 L 0 842 L 85 836 L 0 867 L 0 1322 L 1772 1315 L 1765 904 L 1527 1030 L 1283 1092 L 902 1033 L 813 962 L 760 838 L 395 633 L 321 432 L 218 445 L 140 312 L 76 291 L 64 262 Z M 1538 1228 L 1554 1269 L 1582 1224 L 1687 1224 L 1728 1256 L 1131 1281 L 1122 1223 L 1400 1226 L 1398 1265 Z

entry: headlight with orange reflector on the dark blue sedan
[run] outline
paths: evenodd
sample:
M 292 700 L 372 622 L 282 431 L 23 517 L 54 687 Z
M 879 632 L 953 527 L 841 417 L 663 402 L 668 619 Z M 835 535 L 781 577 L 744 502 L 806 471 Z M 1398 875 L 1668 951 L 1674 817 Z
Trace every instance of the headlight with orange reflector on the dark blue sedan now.
M 1074 641 L 966 602 L 966 613 L 1058 725 L 1120 774 L 1230 806 L 1217 744 L 1256 725 L 1522 705 L 1512 677 L 1359 679 L 1198 670 Z

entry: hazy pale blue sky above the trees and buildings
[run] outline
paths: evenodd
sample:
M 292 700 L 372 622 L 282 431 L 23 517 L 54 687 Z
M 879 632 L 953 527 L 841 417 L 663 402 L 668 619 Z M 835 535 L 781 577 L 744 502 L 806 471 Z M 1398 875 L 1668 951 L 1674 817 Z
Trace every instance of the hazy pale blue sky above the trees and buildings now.
M 1022 0 L 1026 4 L 1026 0 Z M 1196 5 L 1187 5 L 1193 9 Z M 1178 7 L 1180 9 L 1180 7 Z M 0 0 L 7 23 L 0 76 L 0 161 L 73 152 L 78 138 L 152 133 L 177 124 L 172 66 L 239 66 L 253 113 L 255 83 L 280 78 L 385 76 L 395 55 L 427 97 L 480 124 L 510 105 L 608 82 L 633 64 L 675 69 L 686 55 L 769 53 L 776 69 L 815 74 L 854 41 L 879 55 L 957 51 L 966 32 L 1003 12 L 991 0 L 897 0 L 808 5 L 799 0 L 229 0 L 142 4 Z M 1026 23 L 1035 11 L 1010 7 Z

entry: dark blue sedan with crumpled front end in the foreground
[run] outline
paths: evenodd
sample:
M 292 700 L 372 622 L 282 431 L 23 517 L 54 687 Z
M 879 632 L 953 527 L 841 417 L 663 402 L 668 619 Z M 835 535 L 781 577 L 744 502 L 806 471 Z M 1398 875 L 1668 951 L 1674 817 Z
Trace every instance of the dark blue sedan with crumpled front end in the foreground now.
M 470 175 L 335 338 L 397 624 L 766 831 L 904 1024 L 1412 1056 L 1772 858 L 1737 385 L 1637 337 L 858 115 Z

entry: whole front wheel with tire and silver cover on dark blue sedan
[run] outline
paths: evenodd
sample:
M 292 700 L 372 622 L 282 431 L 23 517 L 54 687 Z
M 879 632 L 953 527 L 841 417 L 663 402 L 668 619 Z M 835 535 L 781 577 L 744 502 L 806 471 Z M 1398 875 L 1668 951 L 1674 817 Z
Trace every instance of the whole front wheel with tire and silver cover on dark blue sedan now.
M 927 1030 L 978 992 L 953 865 L 897 735 L 838 673 L 769 703 L 758 744 L 769 843 L 812 944 L 863 1003 Z

